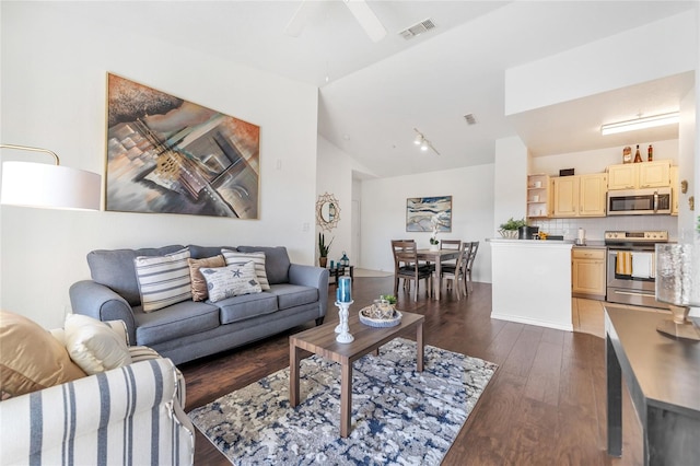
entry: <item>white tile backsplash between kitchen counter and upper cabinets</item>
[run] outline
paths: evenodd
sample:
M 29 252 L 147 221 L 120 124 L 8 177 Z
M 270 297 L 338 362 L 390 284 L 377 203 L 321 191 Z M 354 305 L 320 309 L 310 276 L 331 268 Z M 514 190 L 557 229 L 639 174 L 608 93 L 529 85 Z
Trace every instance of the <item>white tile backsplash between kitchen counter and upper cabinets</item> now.
M 532 220 L 530 226 L 539 226 L 549 234 L 563 235 L 564 240 L 575 240 L 579 229 L 586 231 L 586 240 L 603 241 L 606 231 L 668 231 L 672 241 L 678 237 L 678 217 L 673 215 L 617 215 L 594 219 L 547 219 Z

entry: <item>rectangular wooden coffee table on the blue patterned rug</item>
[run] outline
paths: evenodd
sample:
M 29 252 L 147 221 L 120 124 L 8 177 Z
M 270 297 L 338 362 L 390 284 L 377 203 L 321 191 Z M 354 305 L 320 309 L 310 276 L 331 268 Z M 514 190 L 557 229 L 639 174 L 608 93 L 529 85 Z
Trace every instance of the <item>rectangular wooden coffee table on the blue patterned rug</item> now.
M 340 378 L 340 436 L 350 432 L 350 412 L 352 411 L 352 363 L 374 351 L 378 356 L 380 347 L 396 337 L 416 331 L 417 354 L 416 368 L 423 370 L 423 322 L 419 314 L 401 312 L 401 323 L 394 327 L 376 328 L 360 322 L 358 312 L 351 312 L 348 324 L 354 341 L 339 343 L 336 341 L 336 324 L 328 323 L 304 330 L 289 337 L 289 399 L 290 405 L 299 405 L 299 362 L 302 350 L 311 351 L 330 361 L 339 362 Z

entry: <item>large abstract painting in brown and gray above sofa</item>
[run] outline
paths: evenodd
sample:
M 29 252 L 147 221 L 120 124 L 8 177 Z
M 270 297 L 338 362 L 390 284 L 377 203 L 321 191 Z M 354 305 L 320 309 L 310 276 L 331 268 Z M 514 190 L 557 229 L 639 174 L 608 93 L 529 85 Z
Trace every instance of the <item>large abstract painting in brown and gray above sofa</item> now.
M 108 73 L 106 210 L 258 218 L 260 127 Z

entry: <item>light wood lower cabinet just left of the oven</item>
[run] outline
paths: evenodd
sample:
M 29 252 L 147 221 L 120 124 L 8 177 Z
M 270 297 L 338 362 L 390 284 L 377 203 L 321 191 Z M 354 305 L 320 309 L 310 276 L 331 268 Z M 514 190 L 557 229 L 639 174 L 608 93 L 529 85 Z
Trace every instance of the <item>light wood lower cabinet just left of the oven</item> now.
M 604 247 L 571 249 L 571 294 L 573 296 L 605 300 L 605 256 Z

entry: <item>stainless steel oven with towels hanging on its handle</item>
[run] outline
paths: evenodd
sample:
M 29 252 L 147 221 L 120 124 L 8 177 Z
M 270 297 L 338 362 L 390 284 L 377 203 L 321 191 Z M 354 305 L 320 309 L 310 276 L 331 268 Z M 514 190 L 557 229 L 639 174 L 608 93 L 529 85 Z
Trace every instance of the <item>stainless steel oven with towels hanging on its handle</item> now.
M 668 242 L 668 232 L 605 232 L 608 247 L 607 301 L 666 307 L 655 299 L 656 243 Z

